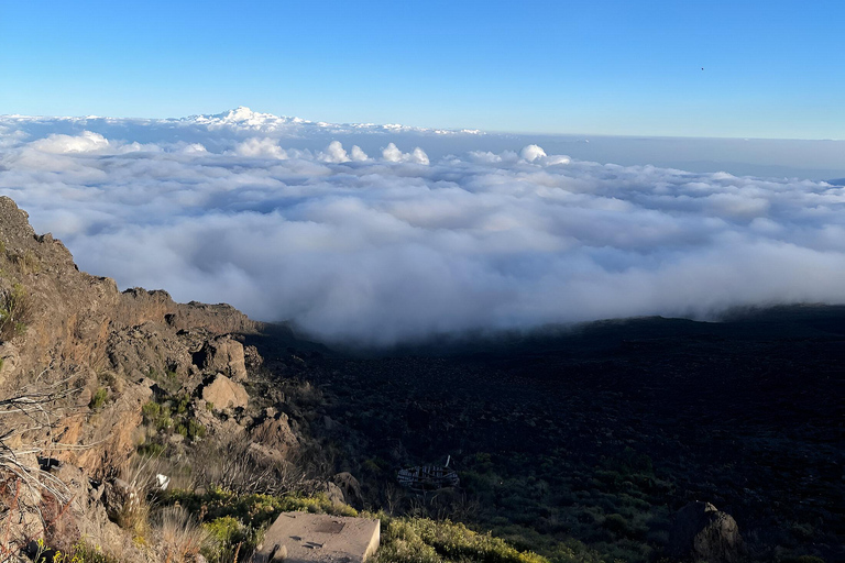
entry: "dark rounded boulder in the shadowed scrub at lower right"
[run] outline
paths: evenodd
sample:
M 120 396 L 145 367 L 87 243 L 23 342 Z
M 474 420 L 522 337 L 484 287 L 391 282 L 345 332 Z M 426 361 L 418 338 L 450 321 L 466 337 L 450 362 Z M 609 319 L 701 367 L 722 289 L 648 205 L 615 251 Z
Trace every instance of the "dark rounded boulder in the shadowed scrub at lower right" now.
M 668 553 L 682 561 L 734 563 L 743 540 L 736 520 L 710 503 L 690 503 L 674 517 Z

